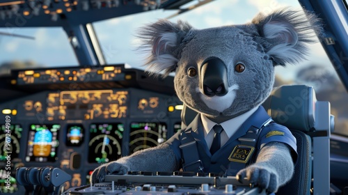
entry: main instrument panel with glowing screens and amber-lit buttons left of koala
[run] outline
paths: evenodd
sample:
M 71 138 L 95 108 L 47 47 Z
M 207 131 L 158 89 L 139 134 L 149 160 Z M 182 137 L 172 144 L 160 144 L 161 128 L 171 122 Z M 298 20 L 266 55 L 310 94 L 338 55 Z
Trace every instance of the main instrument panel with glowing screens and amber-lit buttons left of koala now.
M 22 166 L 62 169 L 72 176 L 65 189 L 88 184 L 100 164 L 175 134 L 181 110 L 173 108 L 180 104 L 175 95 L 143 88 L 44 90 L 1 103 L 1 194 L 24 192 L 14 177 Z

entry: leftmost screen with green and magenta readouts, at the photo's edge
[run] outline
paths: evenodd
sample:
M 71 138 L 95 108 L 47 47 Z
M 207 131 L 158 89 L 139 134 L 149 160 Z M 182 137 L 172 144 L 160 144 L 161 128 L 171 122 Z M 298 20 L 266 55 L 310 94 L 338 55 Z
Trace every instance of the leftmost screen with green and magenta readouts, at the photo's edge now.
M 6 153 L 10 152 L 11 159 L 15 159 L 19 155 L 19 143 L 22 138 L 21 125 L 1 125 L 0 133 L 0 162 L 6 161 Z M 6 143 L 9 143 L 9 147 L 6 147 Z

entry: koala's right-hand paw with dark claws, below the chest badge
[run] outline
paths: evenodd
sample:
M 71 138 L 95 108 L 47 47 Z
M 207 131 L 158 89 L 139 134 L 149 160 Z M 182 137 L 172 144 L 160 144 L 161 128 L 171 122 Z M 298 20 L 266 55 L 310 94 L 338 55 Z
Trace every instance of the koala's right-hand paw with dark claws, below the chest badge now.
M 251 186 L 258 186 L 260 192 L 266 189 L 268 194 L 276 192 L 278 189 L 278 178 L 276 173 L 264 166 L 248 166 L 237 173 L 237 180 L 242 182 L 242 178 L 247 178 Z

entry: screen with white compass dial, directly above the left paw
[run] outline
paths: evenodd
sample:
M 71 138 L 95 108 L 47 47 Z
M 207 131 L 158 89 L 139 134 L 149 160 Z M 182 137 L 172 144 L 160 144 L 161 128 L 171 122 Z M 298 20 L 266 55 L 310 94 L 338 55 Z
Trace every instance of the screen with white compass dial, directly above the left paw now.
M 103 164 L 121 157 L 122 123 L 93 123 L 89 131 L 88 162 Z

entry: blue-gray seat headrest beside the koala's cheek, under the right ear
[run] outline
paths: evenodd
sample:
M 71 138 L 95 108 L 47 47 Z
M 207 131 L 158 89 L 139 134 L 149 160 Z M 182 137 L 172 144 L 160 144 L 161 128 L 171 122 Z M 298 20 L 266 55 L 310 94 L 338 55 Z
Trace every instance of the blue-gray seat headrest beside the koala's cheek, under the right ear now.
M 313 131 L 315 125 L 315 91 L 312 86 L 280 86 L 262 104 L 276 123 L 290 130 Z

